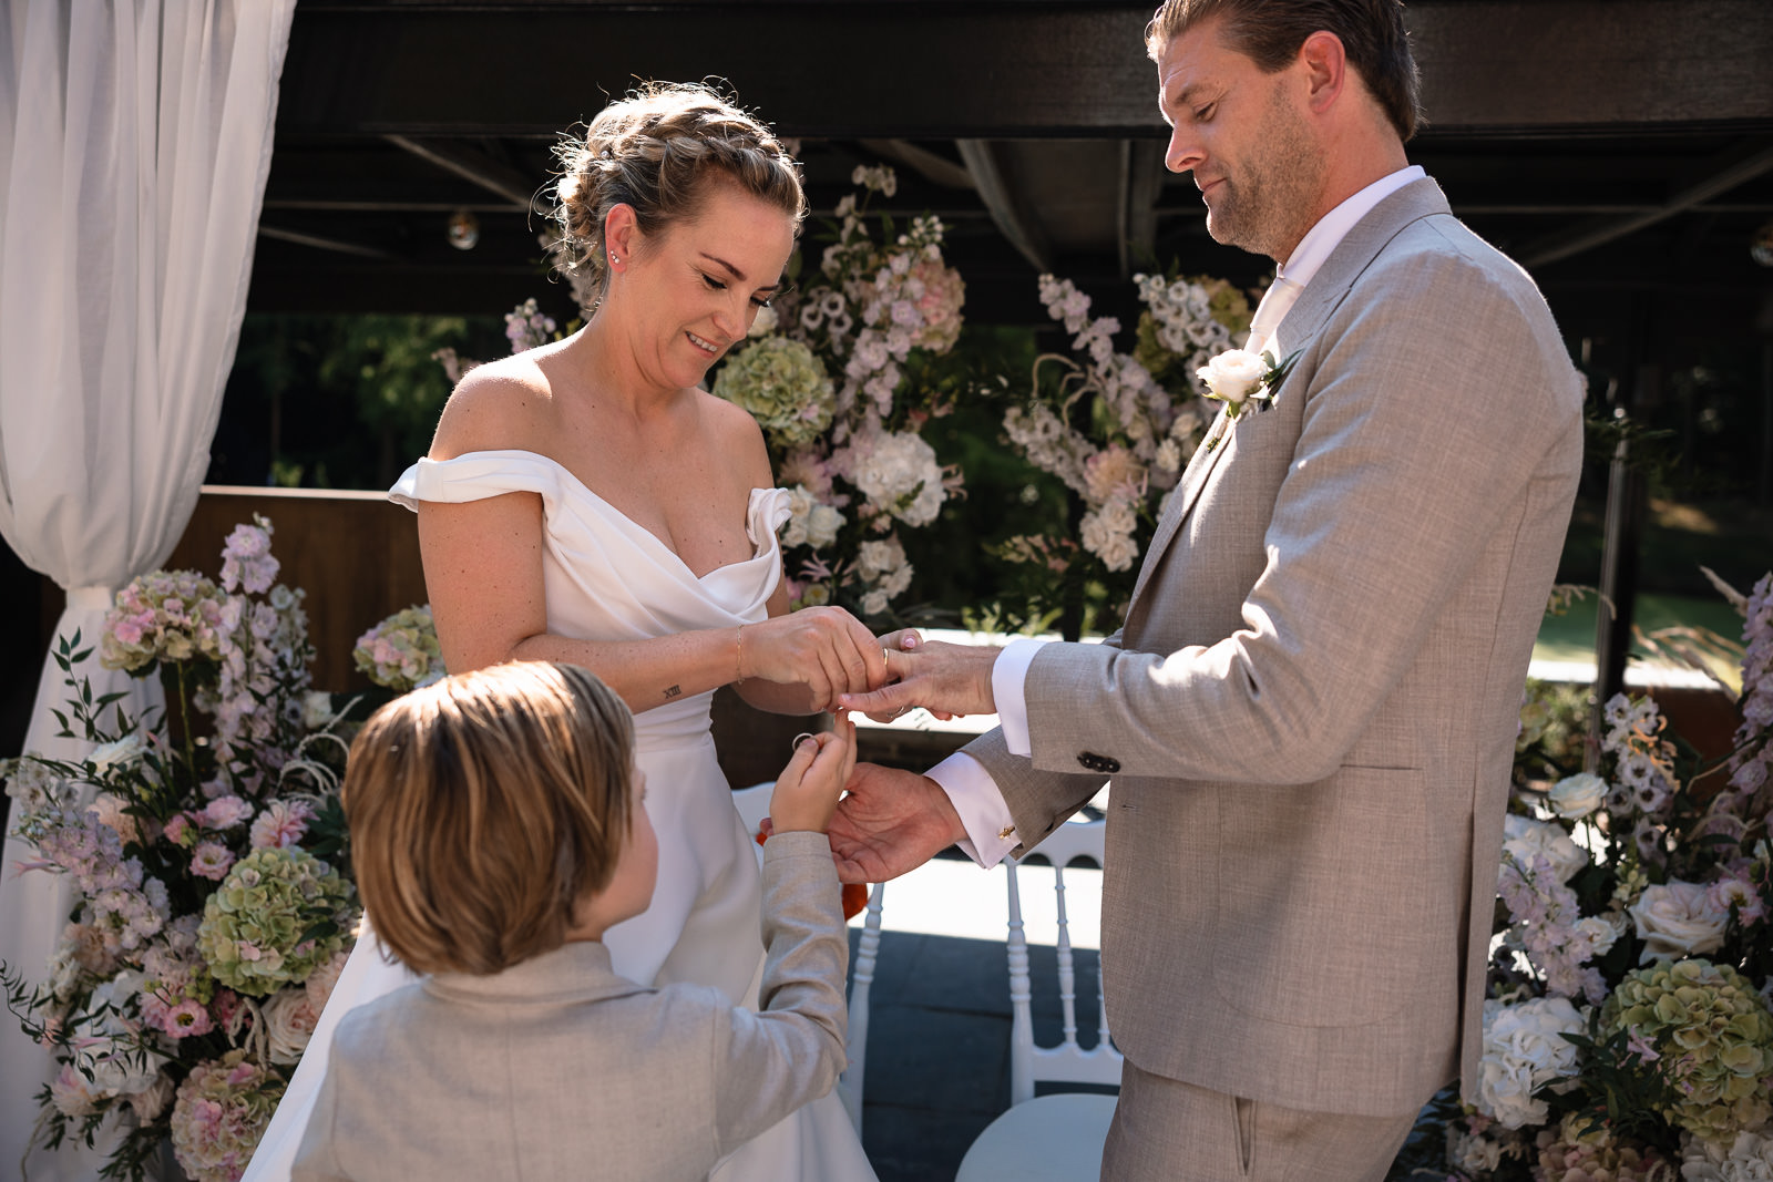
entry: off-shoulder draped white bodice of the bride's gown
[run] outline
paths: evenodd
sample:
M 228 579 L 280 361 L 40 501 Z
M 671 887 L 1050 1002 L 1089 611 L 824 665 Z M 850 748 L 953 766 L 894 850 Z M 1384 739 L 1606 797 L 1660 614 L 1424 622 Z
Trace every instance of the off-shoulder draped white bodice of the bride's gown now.
M 388 498 L 463 503 L 504 493 L 543 498 L 543 588 L 548 631 L 574 640 L 651 640 L 762 620 L 782 576 L 777 528 L 787 519 L 784 489 L 752 489 L 745 532 L 752 556 L 697 576 L 651 530 L 633 521 L 557 461 L 539 452 L 466 452 L 420 459 Z M 713 693 L 679 698 L 635 716 L 642 751 L 707 735 Z

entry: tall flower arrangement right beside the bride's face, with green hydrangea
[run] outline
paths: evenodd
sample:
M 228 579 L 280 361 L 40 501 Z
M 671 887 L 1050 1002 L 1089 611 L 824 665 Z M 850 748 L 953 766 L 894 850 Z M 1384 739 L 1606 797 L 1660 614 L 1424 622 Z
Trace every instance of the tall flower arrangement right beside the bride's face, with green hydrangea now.
M 933 523 L 961 487 L 920 434 L 952 409 L 920 374 L 959 338 L 966 289 L 943 262 L 938 218 L 895 232 L 892 218 L 867 216 L 872 193 L 897 191 L 890 168 L 851 181 L 858 193 L 837 206 L 819 273 L 759 314 L 713 392 L 757 418 L 789 489 L 794 606 L 881 617 L 911 585 L 901 530 Z

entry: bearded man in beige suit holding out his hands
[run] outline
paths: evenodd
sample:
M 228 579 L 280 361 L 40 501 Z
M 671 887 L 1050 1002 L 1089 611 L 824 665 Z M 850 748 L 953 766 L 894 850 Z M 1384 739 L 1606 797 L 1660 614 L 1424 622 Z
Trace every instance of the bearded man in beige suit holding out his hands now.
M 1397 0 L 1167 0 L 1167 163 L 1275 259 L 1271 408 L 1215 425 L 1101 645 L 894 652 L 847 705 L 1002 716 L 858 767 L 846 879 L 1019 856 L 1112 778 L 1105 1178 L 1381 1178 L 1475 1093 L 1521 684 L 1582 461 L 1532 280 L 1408 165 Z M 1291 308 L 1285 307 L 1291 301 Z

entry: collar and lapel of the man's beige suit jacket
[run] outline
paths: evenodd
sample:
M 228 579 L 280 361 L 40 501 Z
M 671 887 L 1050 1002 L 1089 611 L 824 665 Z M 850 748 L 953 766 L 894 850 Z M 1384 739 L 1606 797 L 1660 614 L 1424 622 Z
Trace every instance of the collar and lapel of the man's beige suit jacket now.
M 1433 214 L 1450 213 L 1452 209 L 1447 206 L 1447 197 L 1440 186 L 1425 177 L 1411 181 L 1367 211 L 1367 216 L 1342 236 L 1342 241 L 1337 243 L 1337 248 L 1317 268 L 1317 275 L 1305 285 L 1305 291 L 1300 292 L 1300 298 L 1280 323 L 1280 328 L 1285 330 L 1287 353 L 1310 349 L 1330 314 L 1335 312 L 1337 305 L 1342 303 L 1355 285 L 1355 280 L 1360 278 L 1362 271 L 1379 255 L 1379 250 L 1397 237 L 1406 225 Z M 1280 397 L 1305 397 L 1303 390 L 1293 385 L 1294 381 L 1308 381 L 1308 376 L 1289 376 L 1289 381 L 1282 385 Z M 1223 413 L 1220 411 L 1222 416 Z M 1209 427 L 1207 438 L 1211 436 L 1213 429 Z M 1188 470 L 1183 471 L 1183 482 L 1175 486 L 1175 496 L 1170 498 L 1170 507 L 1158 521 L 1158 530 L 1151 535 L 1151 544 L 1145 548 L 1145 560 L 1140 564 L 1138 581 L 1133 585 L 1133 599 L 1128 603 L 1126 618 L 1129 627 L 1133 626 L 1133 613 L 1140 604 L 1145 585 L 1156 572 L 1170 542 L 1175 540 L 1175 532 L 1181 530 L 1183 519 L 1188 517 L 1188 512 L 1200 498 L 1200 489 L 1206 487 L 1207 477 L 1218 464 L 1220 455 L 1230 450 L 1229 445 L 1230 438 L 1227 432 L 1227 438 L 1220 439 L 1220 445 L 1211 452 L 1206 447 L 1195 452 Z

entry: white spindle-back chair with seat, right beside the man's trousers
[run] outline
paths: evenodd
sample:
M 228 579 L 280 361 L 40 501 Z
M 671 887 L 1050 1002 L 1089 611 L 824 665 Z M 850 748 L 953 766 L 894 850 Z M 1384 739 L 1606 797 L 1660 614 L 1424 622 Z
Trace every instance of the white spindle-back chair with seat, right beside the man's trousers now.
M 1071 921 L 1066 914 L 1066 867 L 1078 858 L 1103 865 L 1101 820 L 1073 820 L 1058 826 L 1028 854 L 1044 856 L 1053 867 L 1053 893 L 1058 914 L 1058 1001 L 1064 1038 L 1043 1047 L 1034 1042 L 1032 980 L 1028 975 L 1028 937 L 1021 921 L 1021 893 L 1016 863 L 1009 879 L 1009 1001 L 1011 1067 L 1007 1113 L 993 1120 L 966 1150 L 954 1182 L 991 1182 L 995 1178 L 1094 1180 L 1101 1175 L 1103 1141 L 1113 1120 L 1115 1099 L 1089 1092 L 1034 1095 L 1034 1085 L 1094 1083 L 1119 1086 L 1121 1053 L 1108 1037 L 1108 1012 L 1096 989 L 1096 1046 L 1078 1044 L 1076 960 L 1071 953 Z M 1023 867 L 1032 870 L 1032 867 Z

